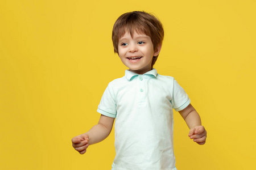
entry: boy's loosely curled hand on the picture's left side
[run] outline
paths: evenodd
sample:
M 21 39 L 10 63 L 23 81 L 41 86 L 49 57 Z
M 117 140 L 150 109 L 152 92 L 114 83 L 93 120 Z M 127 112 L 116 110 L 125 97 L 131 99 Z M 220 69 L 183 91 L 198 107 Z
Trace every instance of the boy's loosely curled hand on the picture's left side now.
M 89 146 L 89 137 L 86 134 L 78 135 L 72 138 L 72 146 L 80 154 L 84 154 Z

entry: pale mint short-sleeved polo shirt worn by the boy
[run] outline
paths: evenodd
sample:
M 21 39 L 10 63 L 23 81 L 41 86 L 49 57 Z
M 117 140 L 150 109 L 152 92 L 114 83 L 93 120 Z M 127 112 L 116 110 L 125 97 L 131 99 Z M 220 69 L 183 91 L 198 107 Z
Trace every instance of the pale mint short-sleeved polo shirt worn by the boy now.
M 173 112 L 190 103 L 171 76 L 155 69 L 109 83 L 97 112 L 115 118 L 115 159 L 112 169 L 176 169 L 173 150 Z

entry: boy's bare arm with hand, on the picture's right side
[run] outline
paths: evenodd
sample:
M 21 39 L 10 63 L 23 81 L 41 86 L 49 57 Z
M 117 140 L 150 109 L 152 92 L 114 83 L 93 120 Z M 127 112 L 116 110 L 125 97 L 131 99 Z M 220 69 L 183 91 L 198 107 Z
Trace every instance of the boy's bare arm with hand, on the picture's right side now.
M 207 131 L 201 125 L 201 119 L 196 109 L 189 104 L 185 109 L 179 111 L 190 129 L 188 136 L 199 145 L 204 145 L 207 138 Z

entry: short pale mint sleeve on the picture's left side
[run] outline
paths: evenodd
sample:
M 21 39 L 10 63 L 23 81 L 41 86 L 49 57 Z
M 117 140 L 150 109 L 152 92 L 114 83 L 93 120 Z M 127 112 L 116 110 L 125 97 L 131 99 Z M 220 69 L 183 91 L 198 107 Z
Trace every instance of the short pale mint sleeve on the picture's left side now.
M 116 108 L 117 107 L 115 104 L 115 95 L 113 92 L 113 88 L 109 83 L 108 87 L 106 88 L 106 90 L 104 91 L 104 94 L 101 97 L 101 101 L 100 101 L 100 104 L 98 105 L 97 112 L 105 116 L 115 118 L 117 114 Z

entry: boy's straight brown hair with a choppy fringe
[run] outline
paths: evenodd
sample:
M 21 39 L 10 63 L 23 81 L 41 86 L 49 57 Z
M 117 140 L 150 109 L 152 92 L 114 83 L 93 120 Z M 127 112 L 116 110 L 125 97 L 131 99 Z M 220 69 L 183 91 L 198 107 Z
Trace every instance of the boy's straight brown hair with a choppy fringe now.
M 162 23 L 154 15 L 143 11 L 127 12 L 119 16 L 113 27 L 112 41 L 115 53 L 118 53 L 119 39 L 125 35 L 126 32 L 129 32 L 131 37 L 133 37 L 134 32 L 144 33 L 149 36 L 154 50 L 156 50 L 159 45 L 162 45 L 164 37 Z M 152 66 L 157 58 L 158 55 L 153 57 Z

